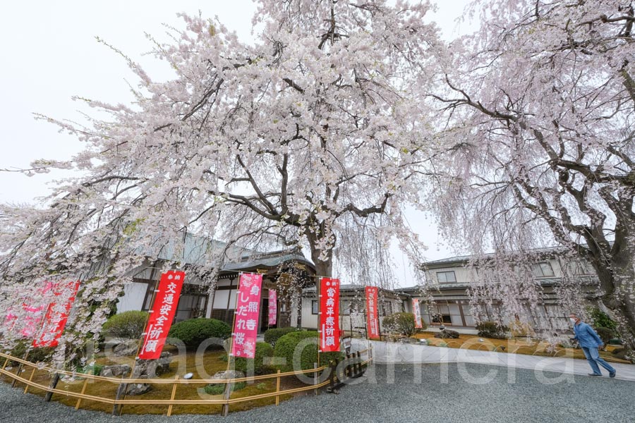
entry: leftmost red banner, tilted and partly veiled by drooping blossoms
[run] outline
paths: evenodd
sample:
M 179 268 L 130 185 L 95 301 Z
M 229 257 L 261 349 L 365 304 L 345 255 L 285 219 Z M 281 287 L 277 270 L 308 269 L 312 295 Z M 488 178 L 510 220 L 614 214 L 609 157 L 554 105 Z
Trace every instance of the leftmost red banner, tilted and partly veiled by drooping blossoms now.
M 54 284 L 53 292 L 56 296 L 56 302 L 49 304 L 47 314 L 44 317 L 42 333 L 40 338 L 33 340 L 33 347 L 56 347 L 58 345 L 79 287 L 79 281 L 68 282 L 65 286 L 60 283 Z M 63 306 L 59 306 L 59 304 L 63 304 Z

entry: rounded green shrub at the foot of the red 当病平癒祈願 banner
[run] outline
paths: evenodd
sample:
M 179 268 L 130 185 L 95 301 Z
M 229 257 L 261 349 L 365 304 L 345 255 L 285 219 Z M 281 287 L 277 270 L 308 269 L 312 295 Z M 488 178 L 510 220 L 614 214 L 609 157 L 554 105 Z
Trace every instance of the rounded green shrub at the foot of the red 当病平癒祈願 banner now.
M 294 363 L 294 352 L 301 342 L 307 342 L 308 345 L 304 345 L 302 353 L 300 355 L 299 362 Z M 317 362 L 317 331 L 295 331 L 287 333 L 279 338 L 274 348 L 274 356 L 284 358 L 286 364 L 280 367 L 283 371 L 291 370 L 306 370 L 313 369 L 313 363 Z M 344 355 L 342 353 L 321 353 L 320 364 L 326 364 L 331 360 L 341 360 Z

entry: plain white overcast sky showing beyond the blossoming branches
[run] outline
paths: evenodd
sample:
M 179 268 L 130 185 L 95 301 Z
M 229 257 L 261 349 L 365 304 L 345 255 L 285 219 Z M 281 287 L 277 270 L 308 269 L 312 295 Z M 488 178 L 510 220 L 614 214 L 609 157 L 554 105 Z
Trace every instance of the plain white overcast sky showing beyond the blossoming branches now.
M 468 0 L 433 0 L 439 10 L 432 19 L 444 37 L 459 34 L 456 18 Z M 152 48 L 144 33 L 163 39 L 162 23 L 180 25 L 176 13 L 219 16 L 242 39 L 251 39 L 251 17 L 255 5 L 250 0 L 231 1 L 11 1 L 3 4 L 0 16 L 0 168 L 28 168 L 35 159 L 67 160 L 82 145 L 60 134 L 54 125 L 35 121 L 33 113 L 53 118 L 82 121 L 81 106 L 71 97 L 78 95 L 104 102 L 130 102 L 126 80 L 136 84 L 123 59 L 97 43 L 95 36 L 121 49 L 143 64 L 153 79 L 164 70 L 150 56 Z M 157 77 L 157 75 L 159 75 Z M 87 111 L 82 109 L 82 111 Z M 90 110 L 89 110 L 90 112 Z M 0 171 L 0 202 L 34 202 L 47 195 L 49 183 L 69 173 L 24 176 Z M 428 259 L 449 257 L 454 252 L 436 228 L 416 212 L 409 222 L 430 248 Z M 411 272 L 395 257 L 402 286 L 413 284 Z M 407 267 L 407 266 L 406 266 Z

